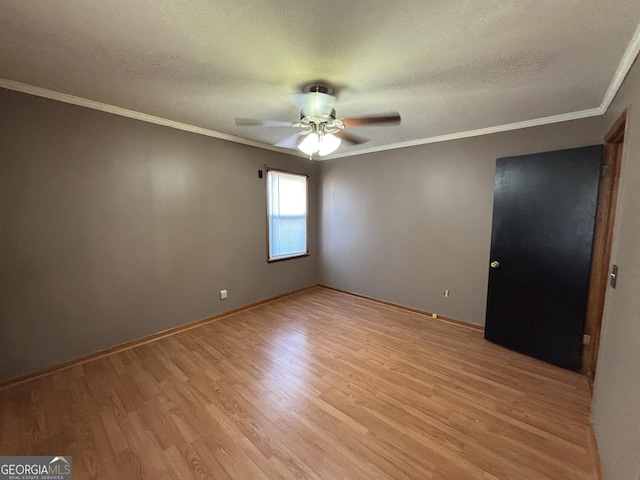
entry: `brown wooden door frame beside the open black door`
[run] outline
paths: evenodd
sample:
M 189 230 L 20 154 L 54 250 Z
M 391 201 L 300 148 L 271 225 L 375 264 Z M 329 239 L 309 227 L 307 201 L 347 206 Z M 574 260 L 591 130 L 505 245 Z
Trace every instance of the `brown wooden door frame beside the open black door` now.
M 620 185 L 620 167 L 622 164 L 626 122 L 627 112 L 624 111 L 604 139 L 604 159 L 598 189 L 591 276 L 589 279 L 587 314 L 584 326 L 584 334 L 588 335 L 590 340 L 586 342 L 588 345 L 583 345 L 582 347 L 582 368 L 580 370 L 581 373 L 587 375 L 589 384 L 592 386 L 598 363 L 602 315 L 609 282 L 611 243 Z

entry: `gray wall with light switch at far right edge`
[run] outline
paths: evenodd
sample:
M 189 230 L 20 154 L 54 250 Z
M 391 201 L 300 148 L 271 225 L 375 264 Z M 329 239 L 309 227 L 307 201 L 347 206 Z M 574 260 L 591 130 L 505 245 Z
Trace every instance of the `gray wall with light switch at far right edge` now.
M 594 386 L 593 424 L 607 480 L 640 478 L 640 63 L 605 118 L 608 130 L 627 110 L 624 157 L 609 287 Z

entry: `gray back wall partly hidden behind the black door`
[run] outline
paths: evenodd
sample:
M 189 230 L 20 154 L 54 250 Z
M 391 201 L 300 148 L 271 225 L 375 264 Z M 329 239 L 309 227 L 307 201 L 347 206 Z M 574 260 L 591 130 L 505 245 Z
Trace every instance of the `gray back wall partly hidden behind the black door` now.
M 484 324 L 496 158 L 602 143 L 601 122 L 323 162 L 320 283 Z

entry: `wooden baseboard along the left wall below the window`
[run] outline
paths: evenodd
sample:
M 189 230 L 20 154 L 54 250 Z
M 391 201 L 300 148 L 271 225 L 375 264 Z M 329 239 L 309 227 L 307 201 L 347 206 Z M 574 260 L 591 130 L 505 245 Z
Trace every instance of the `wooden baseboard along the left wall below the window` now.
M 47 375 L 51 375 L 51 374 L 56 373 L 56 372 L 67 370 L 69 368 L 73 368 L 73 367 L 76 367 L 78 365 L 83 365 L 85 363 L 89 363 L 89 362 L 91 362 L 93 360 L 96 360 L 98 358 L 102 358 L 102 357 L 106 357 L 107 355 L 111 355 L 113 353 L 122 352 L 122 351 L 125 351 L 125 350 L 130 350 L 132 348 L 139 347 L 141 345 L 146 345 L 148 343 L 155 342 L 156 340 L 160 340 L 161 338 L 166 338 L 166 337 L 169 337 L 171 335 L 175 335 L 175 334 L 180 333 L 180 332 L 191 330 L 193 328 L 197 328 L 197 327 L 199 327 L 201 325 L 204 325 L 206 323 L 215 322 L 217 320 L 221 320 L 221 319 L 223 319 L 225 317 L 228 317 L 230 315 L 234 315 L 234 314 L 239 313 L 239 312 L 243 312 L 245 310 L 251 310 L 252 308 L 256 308 L 256 307 L 258 307 L 260 305 L 264 305 L 266 303 L 270 303 L 270 302 L 273 302 L 275 300 L 279 300 L 281 298 L 288 297 L 290 295 L 295 295 L 296 293 L 304 292 L 306 290 L 310 290 L 312 288 L 316 288 L 317 286 L 318 286 L 317 284 L 313 284 L 313 285 L 309 285 L 308 287 L 300 288 L 298 290 L 294 290 L 294 291 L 287 292 L 287 293 L 282 293 L 280 295 L 276 295 L 275 297 L 270 297 L 270 298 L 267 298 L 265 300 L 260 300 L 260 301 L 255 302 L 255 303 L 250 303 L 248 305 L 244 305 L 242 307 L 235 308 L 233 310 L 229 310 L 229 311 L 226 311 L 226 312 L 223 312 L 223 313 L 219 313 L 217 315 L 213 315 L 211 317 L 203 318 L 201 320 L 196 320 L 195 322 L 190 322 L 190 323 L 187 323 L 187 324 L 184 324 L 184 325 L 180 325 L 178 327 L 169 328 L 167 330 L 163 330 L 163 331 L 158 332 L 158 333 L 153 333 L 151 335 L 148 335 L 148 336 L 145 336 L 145 337 L 142 337 L 142 338 L 138 338 L 136 340 L 132 340 L 130 342 L 126 342 L 126 343 L 117 345 L 115 347 L 109 347 L 109 348 L 107 348 L 105 350 L 100 350 L 99 352 L 90 353 L 88 355 L 84 355 L 82 357 L 79 357 L 79 358 L 76 358 L 76 359 L 73 359 L 73 360 L 69 360 L 67 362 L 60 363 L 60 364 L 54 365 L 52 367 L 47 367 L 47 368 L 44 368 L 42 370 L 38 370 L 36 372 L 27 373 L 27 374 L 21 375 L 19 377 L 10 378 L 8 380 L 0 382 L 0 390 L 3 389 L 3 388 L 7 388 L 7 387 L 10 387 L 10 386 L 17 385 L 19 383 L 28 382 L 28 381 L 34 380 L 36 378 L 45 377 Z

